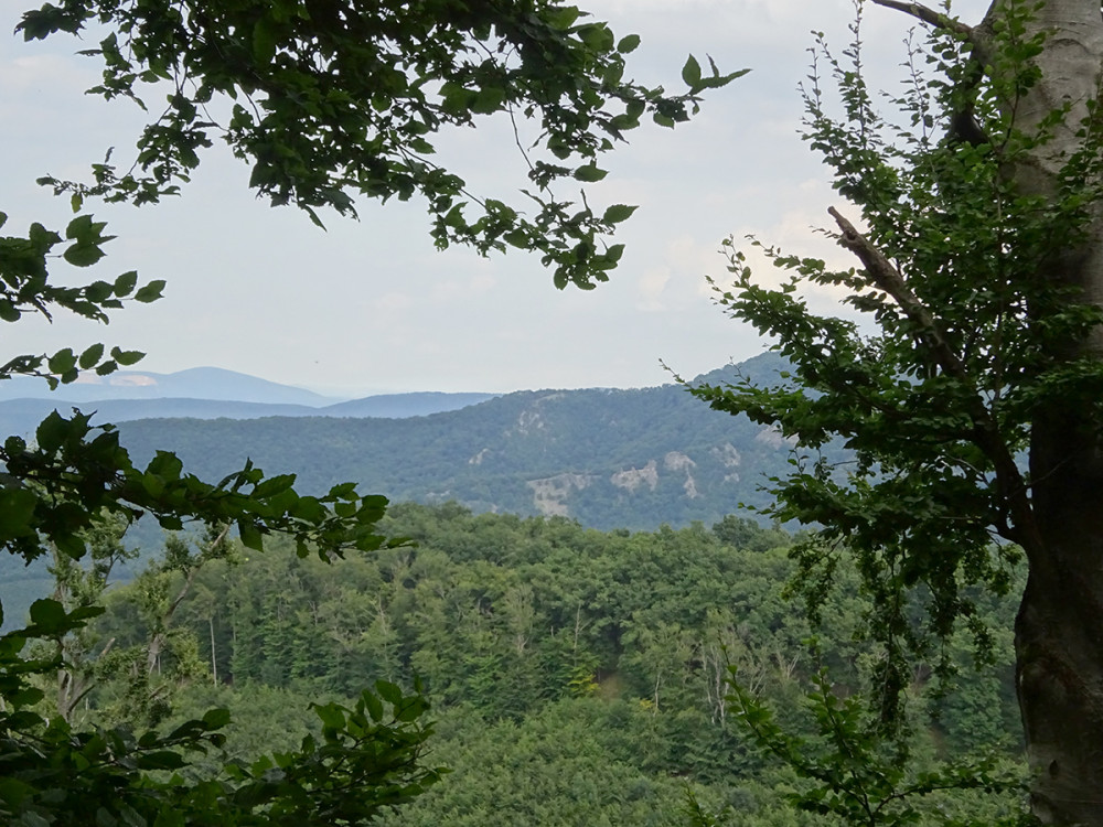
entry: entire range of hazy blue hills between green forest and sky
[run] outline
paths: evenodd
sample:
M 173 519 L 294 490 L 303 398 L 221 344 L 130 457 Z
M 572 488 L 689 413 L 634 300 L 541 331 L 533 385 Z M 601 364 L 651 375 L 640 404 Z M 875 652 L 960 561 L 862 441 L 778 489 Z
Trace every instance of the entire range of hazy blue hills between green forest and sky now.
M 745 376 L 774 384 L 785 366 L 767 353 L 695 382 Z M 308 493 L 355 482 L 395 501 L 456 500 L 474 511 L 564 515 L 596 528 L 708 523 L 741 503 L 762 505 L 763 483 L 785 472 L 791 458 L 775 431 L 713 411 L 678 385 L 330 402 L 195 368 L 75 383 L 56 391 L 64 399 L 43 387 L 33 384 L 40 398 L 3 399 L 32 386 L 0 383 L 0 431 L 33 434 L 50 410 L 78 405 L 96 411 L 94 421 L 118 425 L 136 462 L 167 449 L 203 479 L 222 479 L 251 460 L 270 474 L 295 473 Z M 140 396 L 119 398 L 127 394 Z

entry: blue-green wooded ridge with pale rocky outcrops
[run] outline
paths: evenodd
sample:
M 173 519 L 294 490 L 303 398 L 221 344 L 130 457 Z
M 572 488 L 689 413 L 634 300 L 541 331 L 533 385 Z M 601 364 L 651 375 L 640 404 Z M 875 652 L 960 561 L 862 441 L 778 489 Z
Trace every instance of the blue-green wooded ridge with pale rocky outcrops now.
M 763 354 L 698 380 L 775 383 Z M 353 481 L 394 502 L 457 501 L 475 512 L 557 515 L 595 528 L 711 524 L 764 505 L 792 447 L 676 385 L 521 391 L 407 419 L 156 419 L 119 426 L 137 462 L 169 447 L 191 473 L 221 479 L 246 461 L 293 472 L 299 490 Z

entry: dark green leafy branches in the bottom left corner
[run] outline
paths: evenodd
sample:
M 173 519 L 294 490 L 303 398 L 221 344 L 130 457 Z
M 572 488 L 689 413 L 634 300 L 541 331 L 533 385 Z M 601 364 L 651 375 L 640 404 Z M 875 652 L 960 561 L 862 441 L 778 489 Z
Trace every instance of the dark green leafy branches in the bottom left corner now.
M 379 681 L 355 708 L 315 708 L 322 738 L 251 764 L 228 764 L 214 777 L 188 780 L 192 756 L 222 747 L 224 709 L 207 711 L 168 733 L 129 728 L 74 729 L 62 717 L 35 711 L 42 691 L 30 678 L 55 672 L 60 658 L 25 659 L 33 641 L 58 642 L 98 610 L 66 613 L 36 602 L 31 625 L 0 637 L 0 817 L 6 824 L 353 825 L 408 801 L 439 778 L 419 765 L 430 729 L 427 707 Z M 354 787 L 356 795 L 349 795 Z

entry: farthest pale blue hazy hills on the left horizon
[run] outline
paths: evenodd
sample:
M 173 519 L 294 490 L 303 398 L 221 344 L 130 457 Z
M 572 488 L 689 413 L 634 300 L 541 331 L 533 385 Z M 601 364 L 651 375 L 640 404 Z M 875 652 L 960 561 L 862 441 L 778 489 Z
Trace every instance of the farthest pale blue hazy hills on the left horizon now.
M 96 411 L 93 421 L 260 419 L 261 417 L 424 417 L 494 398 L 494 394 L 384 394 L 336 401 L 256 376 L 196 367 L 173 374 L 119 372 L 51 391 L 41 379 L 0 382 L 0 432 L 33 434 L 52 410 Z

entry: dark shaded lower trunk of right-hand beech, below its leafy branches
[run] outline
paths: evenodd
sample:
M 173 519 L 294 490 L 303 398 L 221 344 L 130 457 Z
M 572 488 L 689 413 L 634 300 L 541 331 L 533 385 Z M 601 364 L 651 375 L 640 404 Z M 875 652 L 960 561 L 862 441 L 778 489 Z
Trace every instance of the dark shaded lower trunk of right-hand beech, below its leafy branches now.
M 1054 406 L 1057 407 L 1057 406 Z M 1016 620 L 1019 707 L 1043 824 L 1103 826 L 1103 463 L 1075 419 L 1035 422 L 1034 503 L 1043 554 Z

